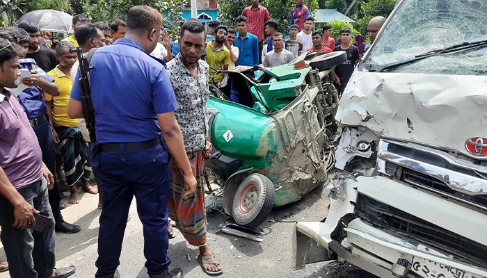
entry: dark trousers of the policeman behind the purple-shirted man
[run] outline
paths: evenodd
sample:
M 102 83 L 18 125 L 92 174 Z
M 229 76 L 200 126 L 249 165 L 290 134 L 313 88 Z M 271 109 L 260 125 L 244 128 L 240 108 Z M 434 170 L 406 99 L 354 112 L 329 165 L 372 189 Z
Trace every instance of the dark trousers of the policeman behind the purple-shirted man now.
M 58 181 L 56 179 L 56 151 L 54 150 L 54 140 L 52 139 L 52 130 L 49 122 L 43 122 L 34 129 L 35 136 L 39 141 L 40 150 L 42 151 L 42 162 L 45 163 L 47 169 L 54 175 L 54 187 L 49 190 L 49 204 L 51 204 L 52 214 L 56 224 L 64 222 L 61 209 L 59 209 L 59 202 L 61 202 L 61 194 L 59 193 Z

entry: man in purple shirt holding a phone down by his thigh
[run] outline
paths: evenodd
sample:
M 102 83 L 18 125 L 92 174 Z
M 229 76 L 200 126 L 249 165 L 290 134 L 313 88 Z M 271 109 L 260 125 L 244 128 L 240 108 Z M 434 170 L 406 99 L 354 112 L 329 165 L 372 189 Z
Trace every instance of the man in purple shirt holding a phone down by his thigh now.
M 47 194 L 54 177 L 42 163 L 23 108 L 7 89 L 17 88 L 21 52 L 18 44 L 0 38 L 0 237 L 10 277 L 65 278 L 74 274 L 74 267 L 55 268 L 55 222 Z M 44 229 L 25 229 L 35 227 L 33 215 L 38 213 L 45 216 Z

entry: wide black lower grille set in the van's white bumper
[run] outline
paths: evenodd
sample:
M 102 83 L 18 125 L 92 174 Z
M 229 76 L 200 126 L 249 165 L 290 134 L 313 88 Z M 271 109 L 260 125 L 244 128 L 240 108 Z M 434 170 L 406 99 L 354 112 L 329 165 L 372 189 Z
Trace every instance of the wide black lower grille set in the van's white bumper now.
M 383 204 L 365 195 L 358 195 L 356 215 L 383 229 L 393 229 L 424 244 L 456 255 L 479 266 L 487 264 L 487 247 L 454 234 L 397 208 Z

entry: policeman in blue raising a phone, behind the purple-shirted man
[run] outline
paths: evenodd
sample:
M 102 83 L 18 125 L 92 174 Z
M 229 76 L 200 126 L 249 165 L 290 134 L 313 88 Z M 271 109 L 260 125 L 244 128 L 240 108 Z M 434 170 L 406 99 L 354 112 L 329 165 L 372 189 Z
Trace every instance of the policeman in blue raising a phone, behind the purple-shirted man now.
M 31 40 L 29 33 L 22 28 L 8 28 L 7 32 L 14 32 L 18 43 L 24 48 L 24 56 L 29 48 Z M 61 195 L 59 194 L 58 183 L 56 181 L 56 154 L 54 151 L 54 140 L 52 138 L 51 124 L 49 117 L 46 114 L 46 104 L 42 98 L 42 92 L 49 95 L 59 95 L 58 86 L 54 83 L 54 79 L 46 72 L 40 69 L 32 58 L 20 58 L 20 69 L 29 70 L 31 77 L 22 79 L 26 88 L 17 95 L 20 106 L 24 108 L 29 122 L 37 136 L 40 149 L 42 150 L 42 161 L 45 163 L 49 171 L 54 175 L 54 187 L 49 190 L 49 204 L 51 205 L 54 220 L 56 220 L 56 231 L 67 234 L 76 233 L 81 230 L 79 225 L 69 224 L 63 220 L 59 202 L 61 202 Z

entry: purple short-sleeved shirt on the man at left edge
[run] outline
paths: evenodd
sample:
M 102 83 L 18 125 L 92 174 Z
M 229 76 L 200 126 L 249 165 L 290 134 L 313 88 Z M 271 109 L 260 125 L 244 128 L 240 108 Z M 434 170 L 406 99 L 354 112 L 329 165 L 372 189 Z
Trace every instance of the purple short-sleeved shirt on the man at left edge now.
M 0 94 L 0 167 L 19 190 L 42 179 L 42 152 L 17 97 Z

